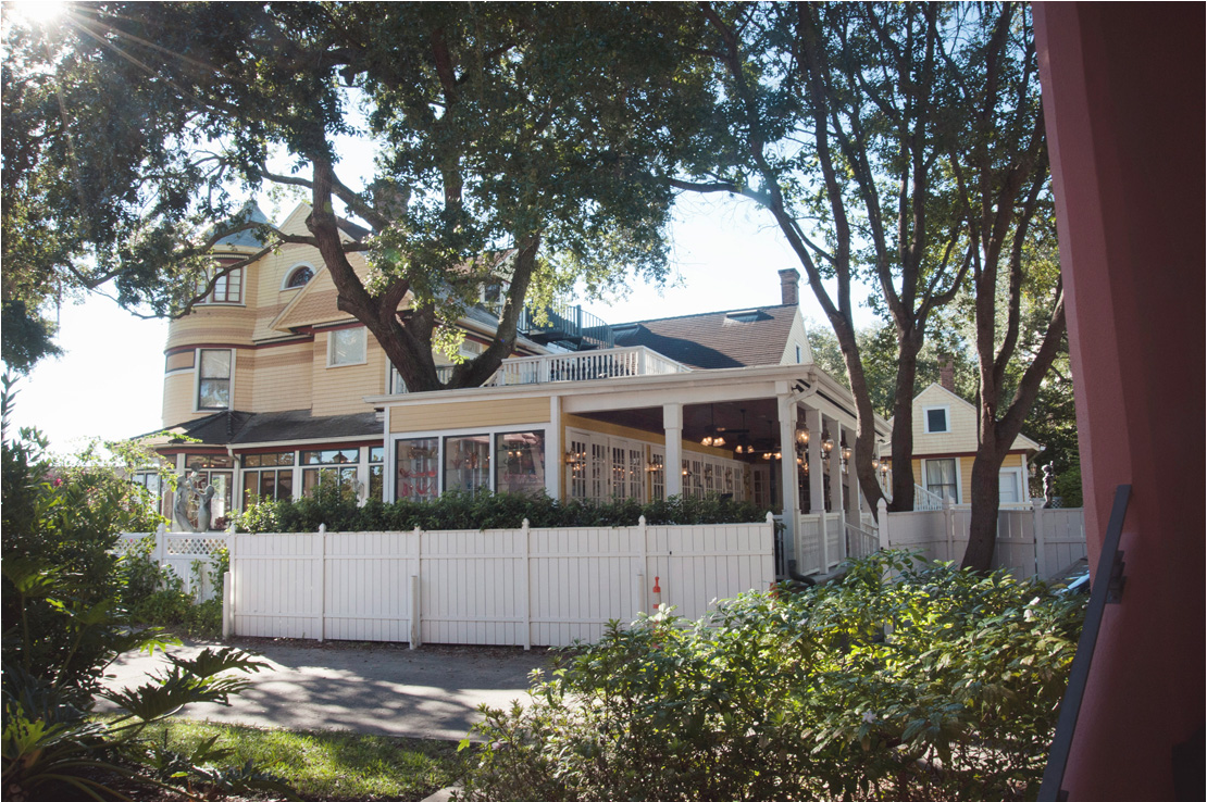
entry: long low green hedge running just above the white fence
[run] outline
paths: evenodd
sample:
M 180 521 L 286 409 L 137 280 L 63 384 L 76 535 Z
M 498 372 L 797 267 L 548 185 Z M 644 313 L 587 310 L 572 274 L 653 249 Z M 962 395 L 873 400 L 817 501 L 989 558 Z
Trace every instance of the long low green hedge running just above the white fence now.
M 431 502 L 398 500 L 386 504 L 369 499 L 357 507 L 354 497 L 319 490 L 296 500 L 262 500 L 249 504 L 237 519 L 240 532 L 409 532 L 416 526 L 432 529 L 519 528 L 529 526 L 635 526 L 640 516 L 649 525 L 742 523 L 763 521 L 766 510 L 750 502 L 672 497 L 640 504 L 632 499 L 607 503 L 559 502 L 548 496 L 519 493 L 449 492 Z

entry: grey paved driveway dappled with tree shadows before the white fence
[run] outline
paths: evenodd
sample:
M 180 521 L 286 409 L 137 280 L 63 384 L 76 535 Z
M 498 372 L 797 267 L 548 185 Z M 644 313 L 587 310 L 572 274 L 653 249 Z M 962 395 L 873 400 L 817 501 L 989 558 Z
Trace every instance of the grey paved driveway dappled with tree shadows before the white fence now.
M 173 654 L 194 655 L 206 644 L 186 642 Z M 482 716 L 477 708 L 527 699 L 529 673 L 548 667 L 549 652 L 503 646 L 395 644 L 235 638 L 229 645 L 262 655 L 270 668 L 250 674 L 251 686 L 231 707 L 193 704 L 180 714 L 231 724 L 291 730 L 352 730 L 413 738 L 460 739 Z M 110 667 L 113 687 L 144 681 L 165 665 L 162 654 L 123 655 Z

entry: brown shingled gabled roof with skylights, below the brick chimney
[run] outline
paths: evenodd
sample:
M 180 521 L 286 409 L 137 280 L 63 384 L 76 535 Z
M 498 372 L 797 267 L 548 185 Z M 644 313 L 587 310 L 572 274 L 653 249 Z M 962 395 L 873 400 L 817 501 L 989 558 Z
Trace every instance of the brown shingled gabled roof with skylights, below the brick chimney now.
M 619 347 L 643 345 L 689 368 L 780 364 L 795 304 L 661 317 L 613 326 Z

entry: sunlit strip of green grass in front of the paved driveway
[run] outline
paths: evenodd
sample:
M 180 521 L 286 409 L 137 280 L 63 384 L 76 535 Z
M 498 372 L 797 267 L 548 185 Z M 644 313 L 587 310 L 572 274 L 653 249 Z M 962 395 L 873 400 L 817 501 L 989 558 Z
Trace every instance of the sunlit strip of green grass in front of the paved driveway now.
M 457 744 L 355 732 L 260 730 L 240 725 L 170 719 L 151 725 L 150 738 L 173 749 L 220 736 L 233 749 L 228 765 L 249 760 L 307 798 L 421 800 L 451 785 L 462 772 Z

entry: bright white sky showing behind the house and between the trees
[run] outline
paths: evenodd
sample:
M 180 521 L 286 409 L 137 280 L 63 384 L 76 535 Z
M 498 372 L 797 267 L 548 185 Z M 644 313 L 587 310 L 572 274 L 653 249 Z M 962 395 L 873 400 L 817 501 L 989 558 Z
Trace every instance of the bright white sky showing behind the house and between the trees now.
M 266 211 L 279 221 L 288 210 Z M 800 269 L 770 216 L 745 200 L 682 198 L 671 238 L 672 274 L 661 293 L 639 285 L 624 300 L 583 305 L 610 323 L 766 306 L 780 303 L 779 271 Z M 805 318 L 822 324 L 804 282 L 800 298 Z M 859 308 L 856 324 L 871 322 Z M 57 453 L 77 451 L 91 438 L 158 429 L 167 336 L 165 321 L 140 320 L 109 298 L 64 305 L 58 341 L 65 355 L 45 361 L 17 385 L 13 425 L 37 427 Z

